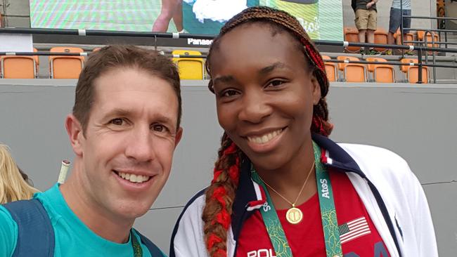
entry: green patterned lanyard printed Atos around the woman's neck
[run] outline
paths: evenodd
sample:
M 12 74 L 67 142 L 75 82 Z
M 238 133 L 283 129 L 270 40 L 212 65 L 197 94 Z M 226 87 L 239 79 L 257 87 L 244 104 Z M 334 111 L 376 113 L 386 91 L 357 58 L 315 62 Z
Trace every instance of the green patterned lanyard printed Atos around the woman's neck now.
M 342 257 L 342 249 L 340 243 L 340 232 L 335 211 L 335 202 L 333 201 L 332 184 L 326 168 L 321 163 L 321 149 L 313 142 L 314 159 L 316 162 L 316 183 L 319 197 L 319 205 L 321 207 L 321 219 L 323 227 L 323 235 L 326 244 L 327 257 Z M 257 184 L 264 188 L 266 202 L 260 208 L 262 218 L 269 234 L 271 244 L 277 257 L 292 257 L 292 251 L 288 244 L 288 239 L 285 237 L 283 226 L 278 218 L 278 213 L 274 209 L 273 202 L 269 195 L 266 185 L 259 178 L 259 174 L 251 165 L 251 178 Z

